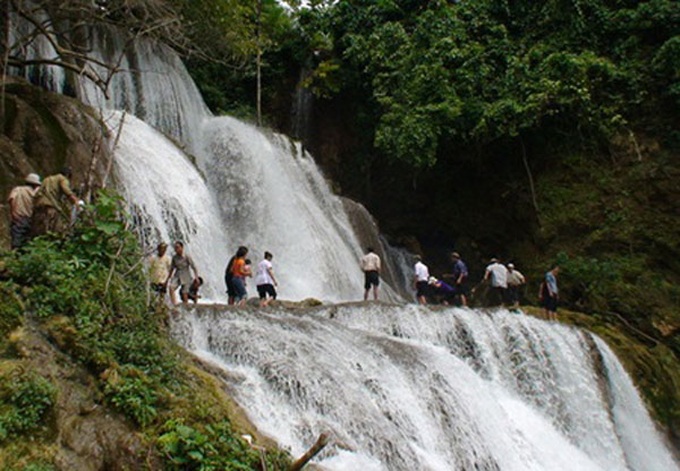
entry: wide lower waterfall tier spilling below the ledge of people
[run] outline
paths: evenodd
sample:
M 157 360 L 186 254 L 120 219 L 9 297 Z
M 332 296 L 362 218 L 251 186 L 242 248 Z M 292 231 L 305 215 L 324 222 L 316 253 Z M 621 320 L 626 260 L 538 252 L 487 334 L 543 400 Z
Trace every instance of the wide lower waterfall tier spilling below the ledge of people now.
M 341 304 L 196 309 L 173 331 L 293 455 L 330 432 L 324 469 L 677 469 L 619 362 L 578 329 L 502 310 Z

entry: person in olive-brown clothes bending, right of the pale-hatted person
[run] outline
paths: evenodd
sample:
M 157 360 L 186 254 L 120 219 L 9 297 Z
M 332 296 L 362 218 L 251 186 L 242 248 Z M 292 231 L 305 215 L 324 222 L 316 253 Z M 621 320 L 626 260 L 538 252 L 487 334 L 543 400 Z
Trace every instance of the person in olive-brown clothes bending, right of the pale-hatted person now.
M 34 210 L 31 218 L 33 237 L 66 230 L 71 221 L 71 210 L 65 208 L 62 200 L 66 198 L 74 206 L 78 205 L 78 197 L 71 190 L 70 178 L 71 168 L 64 167 L 60 173 L 43 180 L 33 199 Z

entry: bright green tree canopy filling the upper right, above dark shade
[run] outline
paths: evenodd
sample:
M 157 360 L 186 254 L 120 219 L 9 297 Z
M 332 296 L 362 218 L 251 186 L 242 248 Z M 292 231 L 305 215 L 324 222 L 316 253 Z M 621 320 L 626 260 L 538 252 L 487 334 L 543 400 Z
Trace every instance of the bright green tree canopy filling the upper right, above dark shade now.
M 539 130 L 606 142 L 645 109 L 677 132 L 677 2 L 357 0 L 300 25 L 332 45 L 315 85 L 363 89 L 375 146 L 414 166 Z

